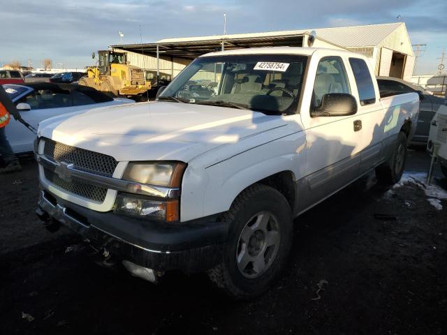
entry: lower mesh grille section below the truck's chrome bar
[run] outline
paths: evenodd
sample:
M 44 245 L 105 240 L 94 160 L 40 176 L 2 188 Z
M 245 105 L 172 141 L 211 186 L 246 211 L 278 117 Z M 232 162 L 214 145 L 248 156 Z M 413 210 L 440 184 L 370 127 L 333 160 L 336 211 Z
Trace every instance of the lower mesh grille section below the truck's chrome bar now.
M 107 194 L 107 188 L 84 184 L 80 181 L 71 180 L 66 181 L 61 179 L 57 173 L 45 169 L 45 179 L 50 181 L 51 184 L 64 188 L 64 190 L 80 195 L 81 197 L 88 198 L 97 202 L 104 202 L 105 195 Z

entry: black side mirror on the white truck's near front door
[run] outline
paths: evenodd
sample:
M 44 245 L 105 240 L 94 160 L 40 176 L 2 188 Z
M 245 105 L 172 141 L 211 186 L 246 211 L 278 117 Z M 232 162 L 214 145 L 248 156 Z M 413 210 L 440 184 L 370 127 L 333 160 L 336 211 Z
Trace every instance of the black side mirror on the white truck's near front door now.
M 356 114 L 357 101 L 351 94 L 328 93 L 321 99 L 321 106 L 311 112 L 312 117 L 345 117 Z

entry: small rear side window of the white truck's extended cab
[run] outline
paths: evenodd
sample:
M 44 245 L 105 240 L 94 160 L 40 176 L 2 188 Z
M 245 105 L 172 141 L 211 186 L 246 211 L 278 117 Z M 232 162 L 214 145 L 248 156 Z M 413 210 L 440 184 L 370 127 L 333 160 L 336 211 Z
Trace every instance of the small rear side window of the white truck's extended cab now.
M 366 62 L 360 58 L 349 58 L 354 79 L 356 80 L 360 105 L 371 105 L 376 102 L 376 92 L 372 82 L 371 73 Z

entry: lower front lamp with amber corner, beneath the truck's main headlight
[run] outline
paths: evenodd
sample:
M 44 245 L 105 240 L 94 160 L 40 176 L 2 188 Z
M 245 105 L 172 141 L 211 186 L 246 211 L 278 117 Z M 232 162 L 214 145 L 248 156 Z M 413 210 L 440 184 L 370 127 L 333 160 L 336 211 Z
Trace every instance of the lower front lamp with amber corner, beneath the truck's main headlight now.
M 173 222 L 179 220 L 179 201 L 157 201 L 121 193 L 117 195 L 114 211 L 117 214 Z

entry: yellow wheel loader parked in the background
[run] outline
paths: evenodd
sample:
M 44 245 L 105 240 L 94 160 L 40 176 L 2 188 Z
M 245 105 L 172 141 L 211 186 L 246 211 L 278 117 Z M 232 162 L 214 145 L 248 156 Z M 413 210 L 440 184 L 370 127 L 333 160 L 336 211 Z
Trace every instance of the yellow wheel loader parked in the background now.
M 95 53 L 91 54 L 95 58 Z M 96 66 L 87 68 L 87 76 L 82 77 L 80 85 L 94 87 L 110 96 L 138 97 L 151 89 L 151 82 L 138 66 L 131 66 L 126 52 L 99 50 Z

